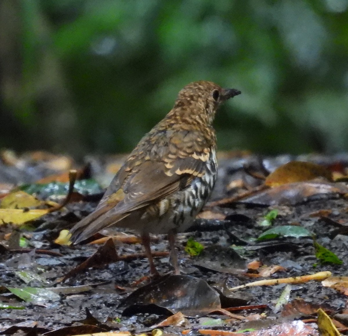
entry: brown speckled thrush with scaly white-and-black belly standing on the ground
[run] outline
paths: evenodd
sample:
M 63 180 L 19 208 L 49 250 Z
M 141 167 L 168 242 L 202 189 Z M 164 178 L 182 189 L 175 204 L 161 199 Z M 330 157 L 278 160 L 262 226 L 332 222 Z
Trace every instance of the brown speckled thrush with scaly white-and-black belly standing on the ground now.
M 183 232 L 205 205 L 216 176 L 216 137 L 212 126 L 217 108 L 239 95 L 209 81 L 192 82 L 177 96 L 174 107 L 140 140 L 127 157 L 97 208 L 70 230 L 79 243 L 109 226 L 140 233 L 150 271 L 149 233 L 168 234 L 175 274 L 175 250 Z

